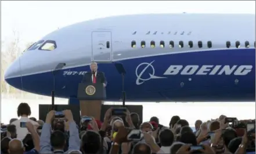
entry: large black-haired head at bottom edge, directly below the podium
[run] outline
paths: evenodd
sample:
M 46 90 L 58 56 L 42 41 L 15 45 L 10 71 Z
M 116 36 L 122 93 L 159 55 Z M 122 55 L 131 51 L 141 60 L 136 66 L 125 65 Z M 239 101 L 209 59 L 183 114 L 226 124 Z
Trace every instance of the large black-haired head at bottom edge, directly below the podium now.
M 83 153 L 98 153 L 101 148 L 102 138 L 99 133 L 88 130 L 84 136 L 82 136 L 81 150 Z

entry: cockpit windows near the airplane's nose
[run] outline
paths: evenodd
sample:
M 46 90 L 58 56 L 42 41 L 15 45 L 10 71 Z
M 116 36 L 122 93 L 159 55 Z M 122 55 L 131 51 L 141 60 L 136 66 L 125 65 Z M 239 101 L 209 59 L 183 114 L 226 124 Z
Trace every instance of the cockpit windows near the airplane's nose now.
M 57 48 L 57 44 L 54 40 L 39 40 L 38 42 L 32 44 L 27 50 L 35 50 L 37 48 L 38 50 L 52 51 L 55 50 L 55 48 Z

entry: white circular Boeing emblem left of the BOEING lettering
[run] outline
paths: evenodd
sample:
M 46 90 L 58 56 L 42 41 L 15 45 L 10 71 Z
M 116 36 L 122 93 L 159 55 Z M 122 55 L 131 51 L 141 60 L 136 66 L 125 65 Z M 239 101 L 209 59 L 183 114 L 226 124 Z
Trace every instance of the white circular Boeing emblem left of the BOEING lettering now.
M 167 78 L 167 77 L 158 77 L 158 76 L 155 76 L 154 73 L 154 66 L 152 65 L 154 61 L 150 62 L 150 63 L 147 63 L 147 62 L 143 62 L 143 63 L 140 63 L 140 65 L 138 65 L 136 67 L 136 70 L 135 70 L 135 73 L 136 73 L 136 76 L 137 76 L 137 80 L 136 80 L 136 85 L 141 85 L 143 84 L 145 81 L 147 80 L 150 80 L 152 78 Z M 138 73 L 138 69 L 139 67 L 142 67 L 144 66 L 144 69 L 142 70 L 142 72 Z M 149 77 L 148 78 L 142 78 L 142 75 L 143 73 L 147 70 L 147 68 L 151 68 L 152 69 L 152 74 L 149 73 Z

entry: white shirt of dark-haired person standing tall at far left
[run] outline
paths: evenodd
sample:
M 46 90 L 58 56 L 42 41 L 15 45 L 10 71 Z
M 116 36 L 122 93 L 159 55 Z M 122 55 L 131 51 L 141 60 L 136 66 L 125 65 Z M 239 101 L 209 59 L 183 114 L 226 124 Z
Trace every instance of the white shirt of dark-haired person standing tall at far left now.
M 31 122 L 34 126 L 39 126 L 37 122 L 29 119 L 28 117 L 21 117 L 19 120 L 12 122 L 11 124 L 16 126 L 17 138 L 20 140 L 23 140 L 23 138 L 28 134 L 27 128 L 20 127 L 20 122 Z

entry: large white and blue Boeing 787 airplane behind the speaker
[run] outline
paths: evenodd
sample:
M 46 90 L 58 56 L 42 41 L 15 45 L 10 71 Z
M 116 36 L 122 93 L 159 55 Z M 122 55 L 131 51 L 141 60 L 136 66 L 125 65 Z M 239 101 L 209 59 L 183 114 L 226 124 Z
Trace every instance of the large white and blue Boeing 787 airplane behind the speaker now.
M 255 14 L 135 14 L 98 18 L 42 37 L 6 70 L 22 91 L 77 98 L 94 61 L 106 101 L 254 102 Z M 53 75 L 55 67 L 64 63 Z M 53 82 L 55 85 L 53 86 Z

